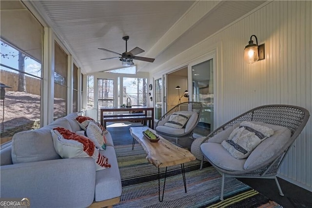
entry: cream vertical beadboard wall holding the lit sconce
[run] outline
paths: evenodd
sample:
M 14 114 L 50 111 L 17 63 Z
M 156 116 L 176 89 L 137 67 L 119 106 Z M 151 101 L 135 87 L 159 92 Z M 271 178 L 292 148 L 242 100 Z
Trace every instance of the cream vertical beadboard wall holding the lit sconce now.
M 215 126 L 263 104 L 292 104 L 312 113 L 312 1 L 272 1 L 155 69 L 172 69 L 215 52 Z M 209 29 L 209 25 L 207 25 Z M 251 35 L 265 60 L 247 64 Z M 312 119 L 280 176 L 312 191 Z

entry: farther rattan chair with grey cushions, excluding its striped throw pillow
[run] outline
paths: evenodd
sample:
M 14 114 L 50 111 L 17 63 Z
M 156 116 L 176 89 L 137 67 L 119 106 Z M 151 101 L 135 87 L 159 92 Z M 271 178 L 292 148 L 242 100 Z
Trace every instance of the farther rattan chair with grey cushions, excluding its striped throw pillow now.
M 155 130 L 157 134 L 161 135 L 165 139 L 175 139 L 176 144 L 178 139 L 181 138 L 193 138 L 193 131 L 199 122 L 202 111 L 202 104 L 199 102 L 185 102 L 177 104 L 165 115 L 163 115 L 156 123 Z M 183 113 L 188 114 L 189 118 L 187 123 L 181 128 L 175 128 L 165 125 L 173 114 Z

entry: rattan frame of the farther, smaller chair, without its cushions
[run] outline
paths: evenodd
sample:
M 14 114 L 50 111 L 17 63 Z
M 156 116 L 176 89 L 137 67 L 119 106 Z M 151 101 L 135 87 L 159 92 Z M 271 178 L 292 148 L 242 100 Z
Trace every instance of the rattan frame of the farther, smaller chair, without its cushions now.
M 171 108 L 167 113 L 165 113 L 162 117 L 160 117 L 160 119 L 156 123 L 155 129 L 159 125 L 159 123 L 161 121 L 163 121 L 168 116 L 171 116 L 174 112 L 177 112 L 177 111 L 195 111 L 195 112 L 197 112 L 198 117 L 197 117 L 196 124 L 189 131 L 184 132 L 183 134 L 180 134 L 180 135 L 174 135 L 174 134 L 167 134 L 167 133 L 159 132 L 159 131 L 157 131 L 157 129 L 156 129 L 156 132 L 158 134 L 160 134 L 162 137 L 164 137 L 165 139 L 167 139 L 167 138 L 175 138 L 176 139 L 176 144 L 177 144 L 177 140 L 179 138 L 189 137 L 189 136 L 192 136 L 192 138 L 193 138 L 193 132 L 194 132 L 194 129 L 195 129 L 196 125 L 198 124 L 198 122 L 200 120 L 202 108 L 203 108 L 203 106 L 199 102 L 184 102 L 184 103 L 177 104 L 176 106 Z

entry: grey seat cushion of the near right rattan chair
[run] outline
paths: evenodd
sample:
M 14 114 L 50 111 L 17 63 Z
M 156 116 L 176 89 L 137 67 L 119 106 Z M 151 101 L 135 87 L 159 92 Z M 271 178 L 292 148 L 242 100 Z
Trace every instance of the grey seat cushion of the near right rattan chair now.
M 216 166 L 225 170 L 244 170 L 246 159 L 234 158 L 221 144 L 206 142 L 200 145 L 202 153 Z

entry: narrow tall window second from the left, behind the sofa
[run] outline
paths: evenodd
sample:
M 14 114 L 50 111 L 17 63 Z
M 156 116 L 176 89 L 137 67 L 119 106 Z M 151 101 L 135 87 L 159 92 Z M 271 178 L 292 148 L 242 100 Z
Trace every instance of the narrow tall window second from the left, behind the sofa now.
M 67 54 L 55 42 L 54 119 L 67 114 Z

